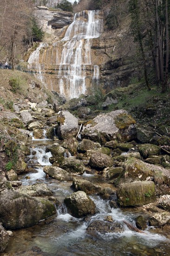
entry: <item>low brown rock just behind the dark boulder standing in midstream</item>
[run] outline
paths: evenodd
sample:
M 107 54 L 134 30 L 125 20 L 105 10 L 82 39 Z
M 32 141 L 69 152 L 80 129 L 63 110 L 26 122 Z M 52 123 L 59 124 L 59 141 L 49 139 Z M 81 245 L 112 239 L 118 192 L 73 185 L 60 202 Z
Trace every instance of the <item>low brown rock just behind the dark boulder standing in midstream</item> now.
M 73 182 L 72 182 L 72 188 L 76 189 L 77 191 L 84 191 L 87 195 L 89 194 L 98 194 L 101 191 L 101 187 L 86 181 L 86 180 L 82 180 L 82 179 L 77 179 L 74 178 Z

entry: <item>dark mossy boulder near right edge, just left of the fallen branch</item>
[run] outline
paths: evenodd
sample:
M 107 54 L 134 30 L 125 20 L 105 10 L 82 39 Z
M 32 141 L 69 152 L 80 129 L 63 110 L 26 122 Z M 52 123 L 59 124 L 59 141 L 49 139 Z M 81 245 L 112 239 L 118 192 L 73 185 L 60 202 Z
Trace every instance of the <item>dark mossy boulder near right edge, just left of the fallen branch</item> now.
M 153 145 L 153 144 L 138 145 L 138 149 L 139 149 L 139 153 L 144 158 L 147 158 L 149 155 L 159 155 L 160 154 L 160 147 Z

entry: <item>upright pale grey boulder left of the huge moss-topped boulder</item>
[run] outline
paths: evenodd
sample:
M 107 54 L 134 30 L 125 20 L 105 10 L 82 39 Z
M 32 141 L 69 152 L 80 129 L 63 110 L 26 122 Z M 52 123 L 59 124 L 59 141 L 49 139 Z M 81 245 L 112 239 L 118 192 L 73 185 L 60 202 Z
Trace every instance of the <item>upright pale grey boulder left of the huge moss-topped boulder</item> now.
M 78 119 L 69 111 L 62 111 L 58 114 L 57 121 L 59 128 L 57 135 L 59 139 L 64 140 L 68 135 L 77 135 L 78 133 Z

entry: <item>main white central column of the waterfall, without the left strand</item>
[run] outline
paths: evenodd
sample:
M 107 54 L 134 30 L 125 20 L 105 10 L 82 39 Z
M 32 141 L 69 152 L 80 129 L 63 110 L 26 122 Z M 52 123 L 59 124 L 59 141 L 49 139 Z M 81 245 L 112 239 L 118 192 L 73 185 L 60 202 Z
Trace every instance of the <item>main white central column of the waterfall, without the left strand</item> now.
M 60 93 L 69 98 L 86 94 L 86 66 L 92 65 L 92 39 L 98 38 L 103 30 L 103 20 L 99 10 L 83 11 L 74 15 L 72 24 L 67 28 L 59 66 Z M 99 67 L 93 66 L 94 72 Z M 66 87 L 65 87 L 66 83 Z

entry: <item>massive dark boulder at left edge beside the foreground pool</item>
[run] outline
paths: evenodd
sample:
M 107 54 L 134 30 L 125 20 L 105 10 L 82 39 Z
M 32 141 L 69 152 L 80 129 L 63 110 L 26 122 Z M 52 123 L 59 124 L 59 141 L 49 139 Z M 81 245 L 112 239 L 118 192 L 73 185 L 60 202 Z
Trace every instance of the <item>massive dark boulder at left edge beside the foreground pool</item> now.
M 0 221 L 7 229 L 31 227 L 56 214 L 52 202 L 8 191 L 0 196 Z

